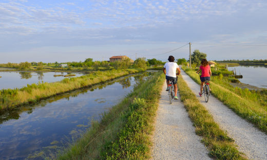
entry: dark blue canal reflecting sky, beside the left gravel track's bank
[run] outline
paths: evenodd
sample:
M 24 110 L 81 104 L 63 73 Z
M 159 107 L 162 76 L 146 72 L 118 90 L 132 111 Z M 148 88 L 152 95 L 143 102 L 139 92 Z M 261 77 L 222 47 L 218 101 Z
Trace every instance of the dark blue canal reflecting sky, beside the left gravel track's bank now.
M 100 119 L 149 74 L 122 77 L 0 113 L 0 159 L 53 158 L 56 150 L 89 127 L 90 119 Z

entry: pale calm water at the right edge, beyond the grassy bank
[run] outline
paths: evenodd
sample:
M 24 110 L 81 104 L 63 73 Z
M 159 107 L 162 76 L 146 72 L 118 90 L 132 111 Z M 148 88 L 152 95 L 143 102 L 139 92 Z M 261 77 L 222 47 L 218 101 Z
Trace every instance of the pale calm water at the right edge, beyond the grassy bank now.
M 267 88 L 267 68 L 264 66 L 237 66 L 228 67 L 228 70 L 235 70 L 236 74 L 243 75 L 239 81 L 244 84 L 253 85 L 260 88 Z

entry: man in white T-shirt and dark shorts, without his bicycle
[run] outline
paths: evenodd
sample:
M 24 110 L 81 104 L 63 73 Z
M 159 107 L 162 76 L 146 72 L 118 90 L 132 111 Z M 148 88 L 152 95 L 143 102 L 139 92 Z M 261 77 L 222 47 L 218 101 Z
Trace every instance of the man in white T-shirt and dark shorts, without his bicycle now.
M 177 97 L 177 79 L 176 76 L 180 74 L 181 70 L 179 68 L 179 66 L 177 65 L 177 63 L 174 62 L 175 58 L 174 56 L 170 55 L 168 58 L 167 63 L 165 63 L 164 68 L 163 68 L 163 72 L 166 75 L 166 84 L 167 84 L 167 89 L 166 91 L 169 90 L 168 85 L 169 85 L 169 81 L 172 80 L 173 84 L 174 84 L 174 99 L 178 99 Z M 176 73 L 176 70 L 178 71 Z

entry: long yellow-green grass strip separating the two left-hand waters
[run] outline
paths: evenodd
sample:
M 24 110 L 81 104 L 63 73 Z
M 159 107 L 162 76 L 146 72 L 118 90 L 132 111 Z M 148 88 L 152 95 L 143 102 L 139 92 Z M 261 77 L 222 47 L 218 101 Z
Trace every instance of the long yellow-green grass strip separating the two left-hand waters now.
M 0 90 L 0 110 L 36 103 L 41 99 L 61 94 L 74 89 L 90 86 L 93 84 L 108 81 L 110 79 L 144 71 L 143 69 L 125 69 L 96 71 L 80 77 L 64 78 L 60 82 L 38 83 L 27 85 L 21 89 L 2 89 Z

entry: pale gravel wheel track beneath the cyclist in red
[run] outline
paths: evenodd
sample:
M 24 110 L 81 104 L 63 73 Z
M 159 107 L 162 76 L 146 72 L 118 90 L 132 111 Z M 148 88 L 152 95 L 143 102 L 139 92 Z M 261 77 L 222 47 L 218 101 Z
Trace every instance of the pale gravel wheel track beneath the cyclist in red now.
M 181 74 L 200 103 L 213 115 L 215 122 L 219 124 L 222 130 L 226 130 L 230 137 L 235 139 L 240 152 L 245 153 L 250 159 L 267 159 L 267 135 L 265 133 L 239 117 L 213 95 L 209 97 L 208 103 L 206 103 L 204 96 L 200 97 L 198 95 L 200 86 L 183 70 L 181 70 Z

